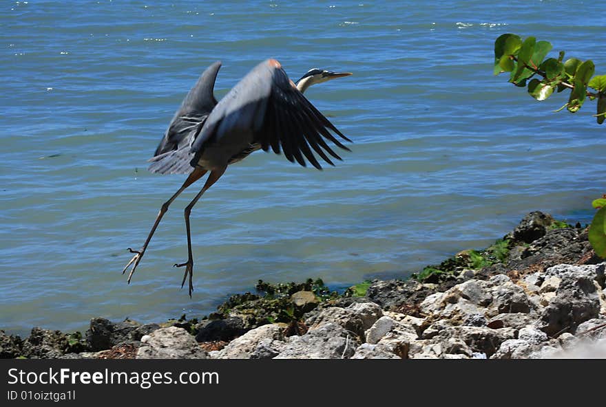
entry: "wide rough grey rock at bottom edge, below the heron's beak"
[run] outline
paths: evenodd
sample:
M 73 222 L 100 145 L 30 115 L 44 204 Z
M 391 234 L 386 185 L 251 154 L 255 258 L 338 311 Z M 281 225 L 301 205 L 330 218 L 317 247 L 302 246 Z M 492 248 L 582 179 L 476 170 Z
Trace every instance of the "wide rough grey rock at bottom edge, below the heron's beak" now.
M 324 322 L 303 336 L 291 336 L 275 359 L 351 358 L 357 347 L 355 335 L 334 322 Z

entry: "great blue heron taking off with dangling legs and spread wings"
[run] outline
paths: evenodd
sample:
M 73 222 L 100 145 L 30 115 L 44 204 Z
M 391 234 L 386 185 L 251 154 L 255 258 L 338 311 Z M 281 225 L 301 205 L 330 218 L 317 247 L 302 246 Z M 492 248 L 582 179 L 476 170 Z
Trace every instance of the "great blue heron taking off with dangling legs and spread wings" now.
M 181 188 L 163 203 L 143 248 L 128 249 L 134 253 L 122 272 L 124 274 L 132 265 L 128 283 L 172 201 L 208 171 L 210 174 L 202 190 L 185 207 L 187 261 L 175 265 L 185 267 L 181 287 L 189 275 L 190 298 L 194 289 L 191 282 L 194 256 L 191 254 L 189 214 L 198 199 L 223 175 L 229 164 L 238 162 L 261 148 L 264 151 L 271 148 L 276 154 L 279 154 L 282 148 L 289 161 L 296 160 L 305 166 L 305 156 L 315 168 L 321 169 L 322 166 L 317 162 L 312 149 L 328 164 L 334 165 L 326 153 L 341 159 L 326 144 L 324 138 L 340 148 L 349 150 L 330 131 L 344 140 L 351 140 L 317 111 L 303 96 L 303 92 L 316 83 L 349 76 L 351 73 L 310 69 L 295 85 L 278 61 L 268 59 L 251 70 L 236 87 L 217 102 L 213 96 L 213 88 L 220 67 L 221 63 L 216 62 L 202 73 L 196 85 L 185 96 L 156 148 L 154 157 L 150 159 L 152 164 L 149 170 L 152 173 L 189 174 L 189 177 Z

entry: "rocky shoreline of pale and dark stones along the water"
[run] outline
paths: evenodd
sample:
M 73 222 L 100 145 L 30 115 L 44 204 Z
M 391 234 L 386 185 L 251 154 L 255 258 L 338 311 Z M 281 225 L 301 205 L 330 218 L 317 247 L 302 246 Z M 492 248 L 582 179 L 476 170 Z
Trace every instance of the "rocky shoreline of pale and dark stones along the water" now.
M 0 358 L 606 358 L 606 263 L 587 228 L 531 212 L 485 250 L 344 293 L 321 280 L 231 296 L 158 324 L 93 318 L 84 334 L 0 330 Z

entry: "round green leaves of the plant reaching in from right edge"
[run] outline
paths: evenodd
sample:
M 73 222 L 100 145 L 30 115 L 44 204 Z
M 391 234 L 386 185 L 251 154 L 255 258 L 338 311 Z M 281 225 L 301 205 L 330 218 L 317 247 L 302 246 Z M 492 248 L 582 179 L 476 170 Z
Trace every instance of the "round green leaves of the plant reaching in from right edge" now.
M 509 72 L 509 82 L 527 87 L 528 94 L 536 100 L 545 100 L 554 91 L 570 90 L 568 101 L 556 112 L 566 108 L 570 113 L 576 113 L 585 100 L 597 100 L 594 117 L 602 124 L 606 119 L 606 75 L 594 76 L 593 61 L 578 58 L 564 61 L 563 51 L 559 52 L 558 58 L 545 59 L 552 49 L 551 43 L 536 41 L 534 36 L 522 40 L 516 34 L 503 34 L 494 41 L 493 72 L 495 75 Z M 606 258 L 606 197 L 596 199 L 593 206 L 598 212 L 589 226 L 589 243 L 598 256 Z

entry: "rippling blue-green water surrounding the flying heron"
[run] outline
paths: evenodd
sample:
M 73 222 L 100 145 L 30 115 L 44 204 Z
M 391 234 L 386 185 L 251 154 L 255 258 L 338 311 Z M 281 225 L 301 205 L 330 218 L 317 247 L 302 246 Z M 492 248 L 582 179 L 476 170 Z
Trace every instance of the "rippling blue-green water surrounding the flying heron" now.
M 513 32 L 593 59 L 606 14 L 590 1 L 3 1 L 0 4 L 0 328 L 85 330 L 90 318 L 162 321 L 213 311 L 259 279 L 333 289 L 408 276 L 503 236 L 531 210 L 587 223 L 605 192 L 595 102 L 552 113 L 492 75 Z M 296 80 L 353 76 L 306 96 L 351 140 L 322 171 L 254 153 L 192 213 L 183 175 L 148 173 L 182 98 L 222 61 L 216 96 L 276 58 Z M 567 95 L 567 93 L 566 93 Z

